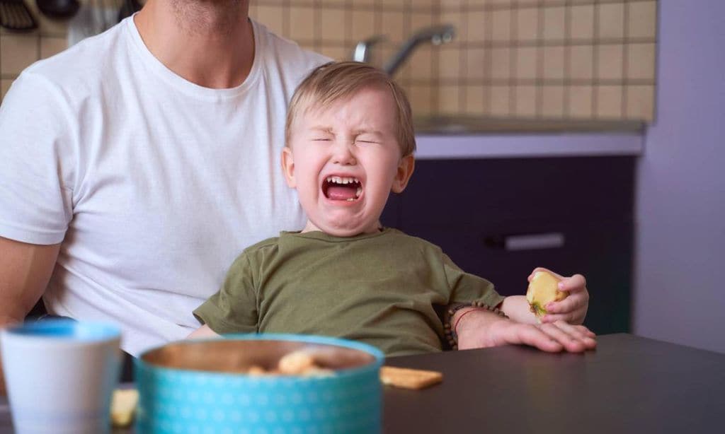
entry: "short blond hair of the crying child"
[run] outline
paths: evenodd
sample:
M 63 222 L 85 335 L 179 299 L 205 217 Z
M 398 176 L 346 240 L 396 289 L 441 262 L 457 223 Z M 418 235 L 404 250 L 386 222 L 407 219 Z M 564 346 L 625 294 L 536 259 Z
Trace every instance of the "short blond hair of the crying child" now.
M 397 141 L 402 156 L 409 156 L 415 150 L 413 114 L 410 103 L 402 88 L 383 70 L 359 61 L 331 61 L 310 72 L 292 95 L 287 111 L 284 136 L 290 145 L 291 127 L 299 116 L 310 108 L 326 107 L 337 101 L 352 97 L 363 88 L 388 88 L 395 101 L 397 113 Z

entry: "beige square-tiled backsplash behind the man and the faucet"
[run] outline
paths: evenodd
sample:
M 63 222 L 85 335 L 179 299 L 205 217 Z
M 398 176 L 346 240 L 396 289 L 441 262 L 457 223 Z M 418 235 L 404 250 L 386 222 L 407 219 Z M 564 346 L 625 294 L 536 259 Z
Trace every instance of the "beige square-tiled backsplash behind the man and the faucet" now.
M 455 25 L 454 41 L 420 46 L 397 72 L 418 115 L 654 117 L 656 0 L 252 0 L 250 14 L 334 59 L 385 35 L 372 48 L 378 64 L 415 30 Z M 40 24 L 1 31 L 3 95 L 28 64 L 65 47 L 64 23 Z

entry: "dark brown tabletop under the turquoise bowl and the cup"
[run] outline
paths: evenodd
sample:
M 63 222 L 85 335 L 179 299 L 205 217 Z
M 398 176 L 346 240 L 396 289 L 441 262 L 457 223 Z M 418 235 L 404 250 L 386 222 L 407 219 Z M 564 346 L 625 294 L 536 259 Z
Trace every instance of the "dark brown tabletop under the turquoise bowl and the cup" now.
M 423 391 L 386 388 L 385 433 L 724 432 L 725 355 L 629 334 L 600 336 L 586 354 L 505 346 L 386 364 L 439 370 L 444 380 Z

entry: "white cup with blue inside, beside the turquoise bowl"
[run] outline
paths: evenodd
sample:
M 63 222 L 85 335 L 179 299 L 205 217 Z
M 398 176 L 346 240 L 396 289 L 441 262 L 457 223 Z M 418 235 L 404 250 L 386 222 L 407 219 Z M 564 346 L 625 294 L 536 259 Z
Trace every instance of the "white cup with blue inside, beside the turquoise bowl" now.
M 120 369 L 119 343 L 119 328 L 73 320 L 43 320 L 1 331 L 16 433 L 107 433 Z

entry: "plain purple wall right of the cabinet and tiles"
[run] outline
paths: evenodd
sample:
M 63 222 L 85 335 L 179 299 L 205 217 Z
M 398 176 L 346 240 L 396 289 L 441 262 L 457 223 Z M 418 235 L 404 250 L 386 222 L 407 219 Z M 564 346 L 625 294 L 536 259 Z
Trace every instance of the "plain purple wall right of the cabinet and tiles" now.
M 662 0 L 634 333 L 725 352 L 725 1 Z

